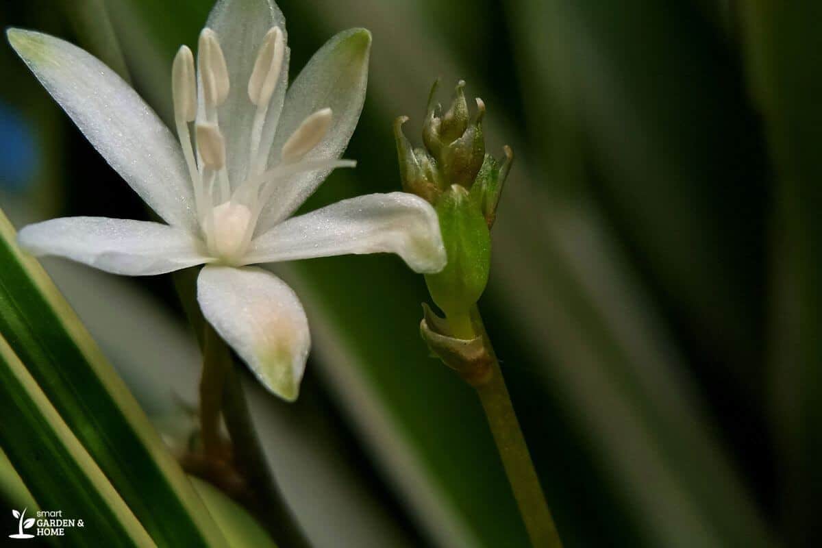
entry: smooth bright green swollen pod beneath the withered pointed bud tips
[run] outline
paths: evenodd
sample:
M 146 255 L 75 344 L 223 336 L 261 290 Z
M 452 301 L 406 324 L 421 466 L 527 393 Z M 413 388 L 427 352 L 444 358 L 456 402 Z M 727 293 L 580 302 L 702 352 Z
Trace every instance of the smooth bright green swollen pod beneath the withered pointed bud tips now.
M 479 300 L 491 266 L 491 234 L 479 205 L 464 187 L 451 185 L 437 200 L 448 264 L 425 277 L 436 306 L 448 317 L 465 315 Z

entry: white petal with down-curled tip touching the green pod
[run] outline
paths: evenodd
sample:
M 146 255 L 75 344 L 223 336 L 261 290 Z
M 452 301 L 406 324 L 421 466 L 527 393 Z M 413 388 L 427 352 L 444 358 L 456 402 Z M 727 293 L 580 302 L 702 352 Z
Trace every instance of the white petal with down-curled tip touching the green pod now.
M 405 192 L 342 200 L 271 228 L 252 242 L 243 261 L 380 252 L 396 253 L 418 272 L 440 271 L 446 250 L 434 208 Z

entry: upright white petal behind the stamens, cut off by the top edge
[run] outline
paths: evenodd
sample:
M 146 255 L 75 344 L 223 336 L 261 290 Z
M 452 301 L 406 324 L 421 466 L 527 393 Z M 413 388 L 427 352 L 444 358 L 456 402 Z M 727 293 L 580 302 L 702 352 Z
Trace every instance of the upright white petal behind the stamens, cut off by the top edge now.
M 288 38 L 285 17 L 271 0 L 219 0 L 211 9 L 205 26 L 217 33 L 229 68 L 231 87 L 228 99 L 219 108 L 219 127 L 227 147 L 229 180 L 233 187 L 238 187 L 247 177 L 251 127 L 256 113 L 256 107 L 248 97 L 248 80 L 262 40 L 271 27 L 279 26 L 284 39 Z M 266 114 L 260 150 L 268 150 L 274 140 L 288 85 L 289 48 L 285 48 L 283 68 Z

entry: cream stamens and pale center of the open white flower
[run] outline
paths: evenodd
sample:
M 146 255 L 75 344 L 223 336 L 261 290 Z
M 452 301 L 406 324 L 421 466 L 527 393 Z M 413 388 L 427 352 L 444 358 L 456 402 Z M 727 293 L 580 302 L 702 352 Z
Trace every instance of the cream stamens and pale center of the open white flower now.
M 279 151 L 279 165 L 268 168 L 271 147 L 262 145 L 262 131 L 279 85 L 284 54 L 283 33 L 273 27 L 263 39 L 248 80 L 249 108 L 255 113 L 248 128 L 247 163 L 245 169 L 237 170 L 245 173 L 242 181 L 229 181 L 225 140 L 219 129 L 219 114 L 226 112 L 220 107 L 229 99 L 231 85 L 217 35 L 208 28 L 201 32 L 196 69 L 192 50 L 186 46 L 174 58 L 174 121 L 192 178 L 201 237 L 215 259 L 229 264 L 242 264 L 257 219 L 271 200 L 278 179 L 305 171 L 353 167 L 353 162 L 346 160 L 310 159 L 331 126 L 331 109 L 321 108 L 308 115 L 285 140 Z M 190 124 L 195 130 L 193 142 Z

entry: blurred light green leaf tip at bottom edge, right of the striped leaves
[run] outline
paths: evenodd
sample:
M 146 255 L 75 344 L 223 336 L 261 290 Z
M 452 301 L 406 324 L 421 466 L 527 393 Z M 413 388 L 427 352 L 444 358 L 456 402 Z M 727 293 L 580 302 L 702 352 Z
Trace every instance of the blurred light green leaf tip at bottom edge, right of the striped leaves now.
M 224 493 L 197 477 L 188 477 L 231 548 L 276 548 L 254 518 Z

